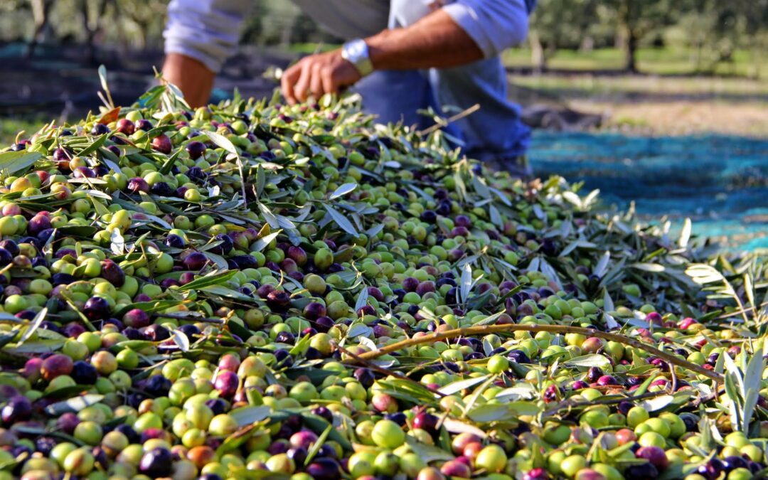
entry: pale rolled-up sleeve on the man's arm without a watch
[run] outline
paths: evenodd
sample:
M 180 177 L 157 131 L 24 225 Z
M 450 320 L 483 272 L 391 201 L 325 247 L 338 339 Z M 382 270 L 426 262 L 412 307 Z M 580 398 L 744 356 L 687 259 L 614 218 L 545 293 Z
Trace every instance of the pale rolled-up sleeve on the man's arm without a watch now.
M 251 0 L 171 0 L 163 32 L 165 53 L 195 58 L 218 72 L 237 51 Z

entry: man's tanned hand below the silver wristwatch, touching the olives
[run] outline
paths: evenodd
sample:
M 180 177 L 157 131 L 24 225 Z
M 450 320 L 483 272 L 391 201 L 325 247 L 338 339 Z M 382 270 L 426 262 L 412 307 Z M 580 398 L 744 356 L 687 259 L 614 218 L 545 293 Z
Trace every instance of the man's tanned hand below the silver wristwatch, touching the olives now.
M 355 84 L 361 78 L 349 61 L 341 56 L 341 49 L 310 55 L 288 68 L 280 78 L 283 97 L 288 103 L 306 101 L 310 94 L 320 98 L 323 94 L 338 93 L 341 88 Z

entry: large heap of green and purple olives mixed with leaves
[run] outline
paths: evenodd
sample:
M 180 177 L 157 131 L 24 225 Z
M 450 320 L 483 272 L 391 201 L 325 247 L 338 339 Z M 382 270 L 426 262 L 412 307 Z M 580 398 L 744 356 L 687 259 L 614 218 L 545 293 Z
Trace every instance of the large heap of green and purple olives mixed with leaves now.
M 174 91 L 0 151 L 0 480 L 766 468 L 764 258 L 352 101 Z

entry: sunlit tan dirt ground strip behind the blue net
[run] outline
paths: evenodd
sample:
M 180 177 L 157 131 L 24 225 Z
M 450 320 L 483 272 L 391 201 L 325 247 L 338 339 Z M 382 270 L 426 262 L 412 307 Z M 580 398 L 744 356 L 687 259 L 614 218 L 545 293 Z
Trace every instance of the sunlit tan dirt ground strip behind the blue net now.
M 599 114 L 602 128 L 647 135 L 768 137 L 768 80 L 511 74 L 512 98 Z

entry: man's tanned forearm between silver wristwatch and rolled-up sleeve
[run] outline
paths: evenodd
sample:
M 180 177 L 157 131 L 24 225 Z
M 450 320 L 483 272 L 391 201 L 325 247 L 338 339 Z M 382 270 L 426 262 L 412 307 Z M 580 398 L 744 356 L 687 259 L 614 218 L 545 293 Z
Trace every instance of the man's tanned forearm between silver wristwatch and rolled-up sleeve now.
M 376 70 L 451 68 L 483 58 L 467 32 L 437 10 L 407 28 L 393 28 L 366 38 Z

